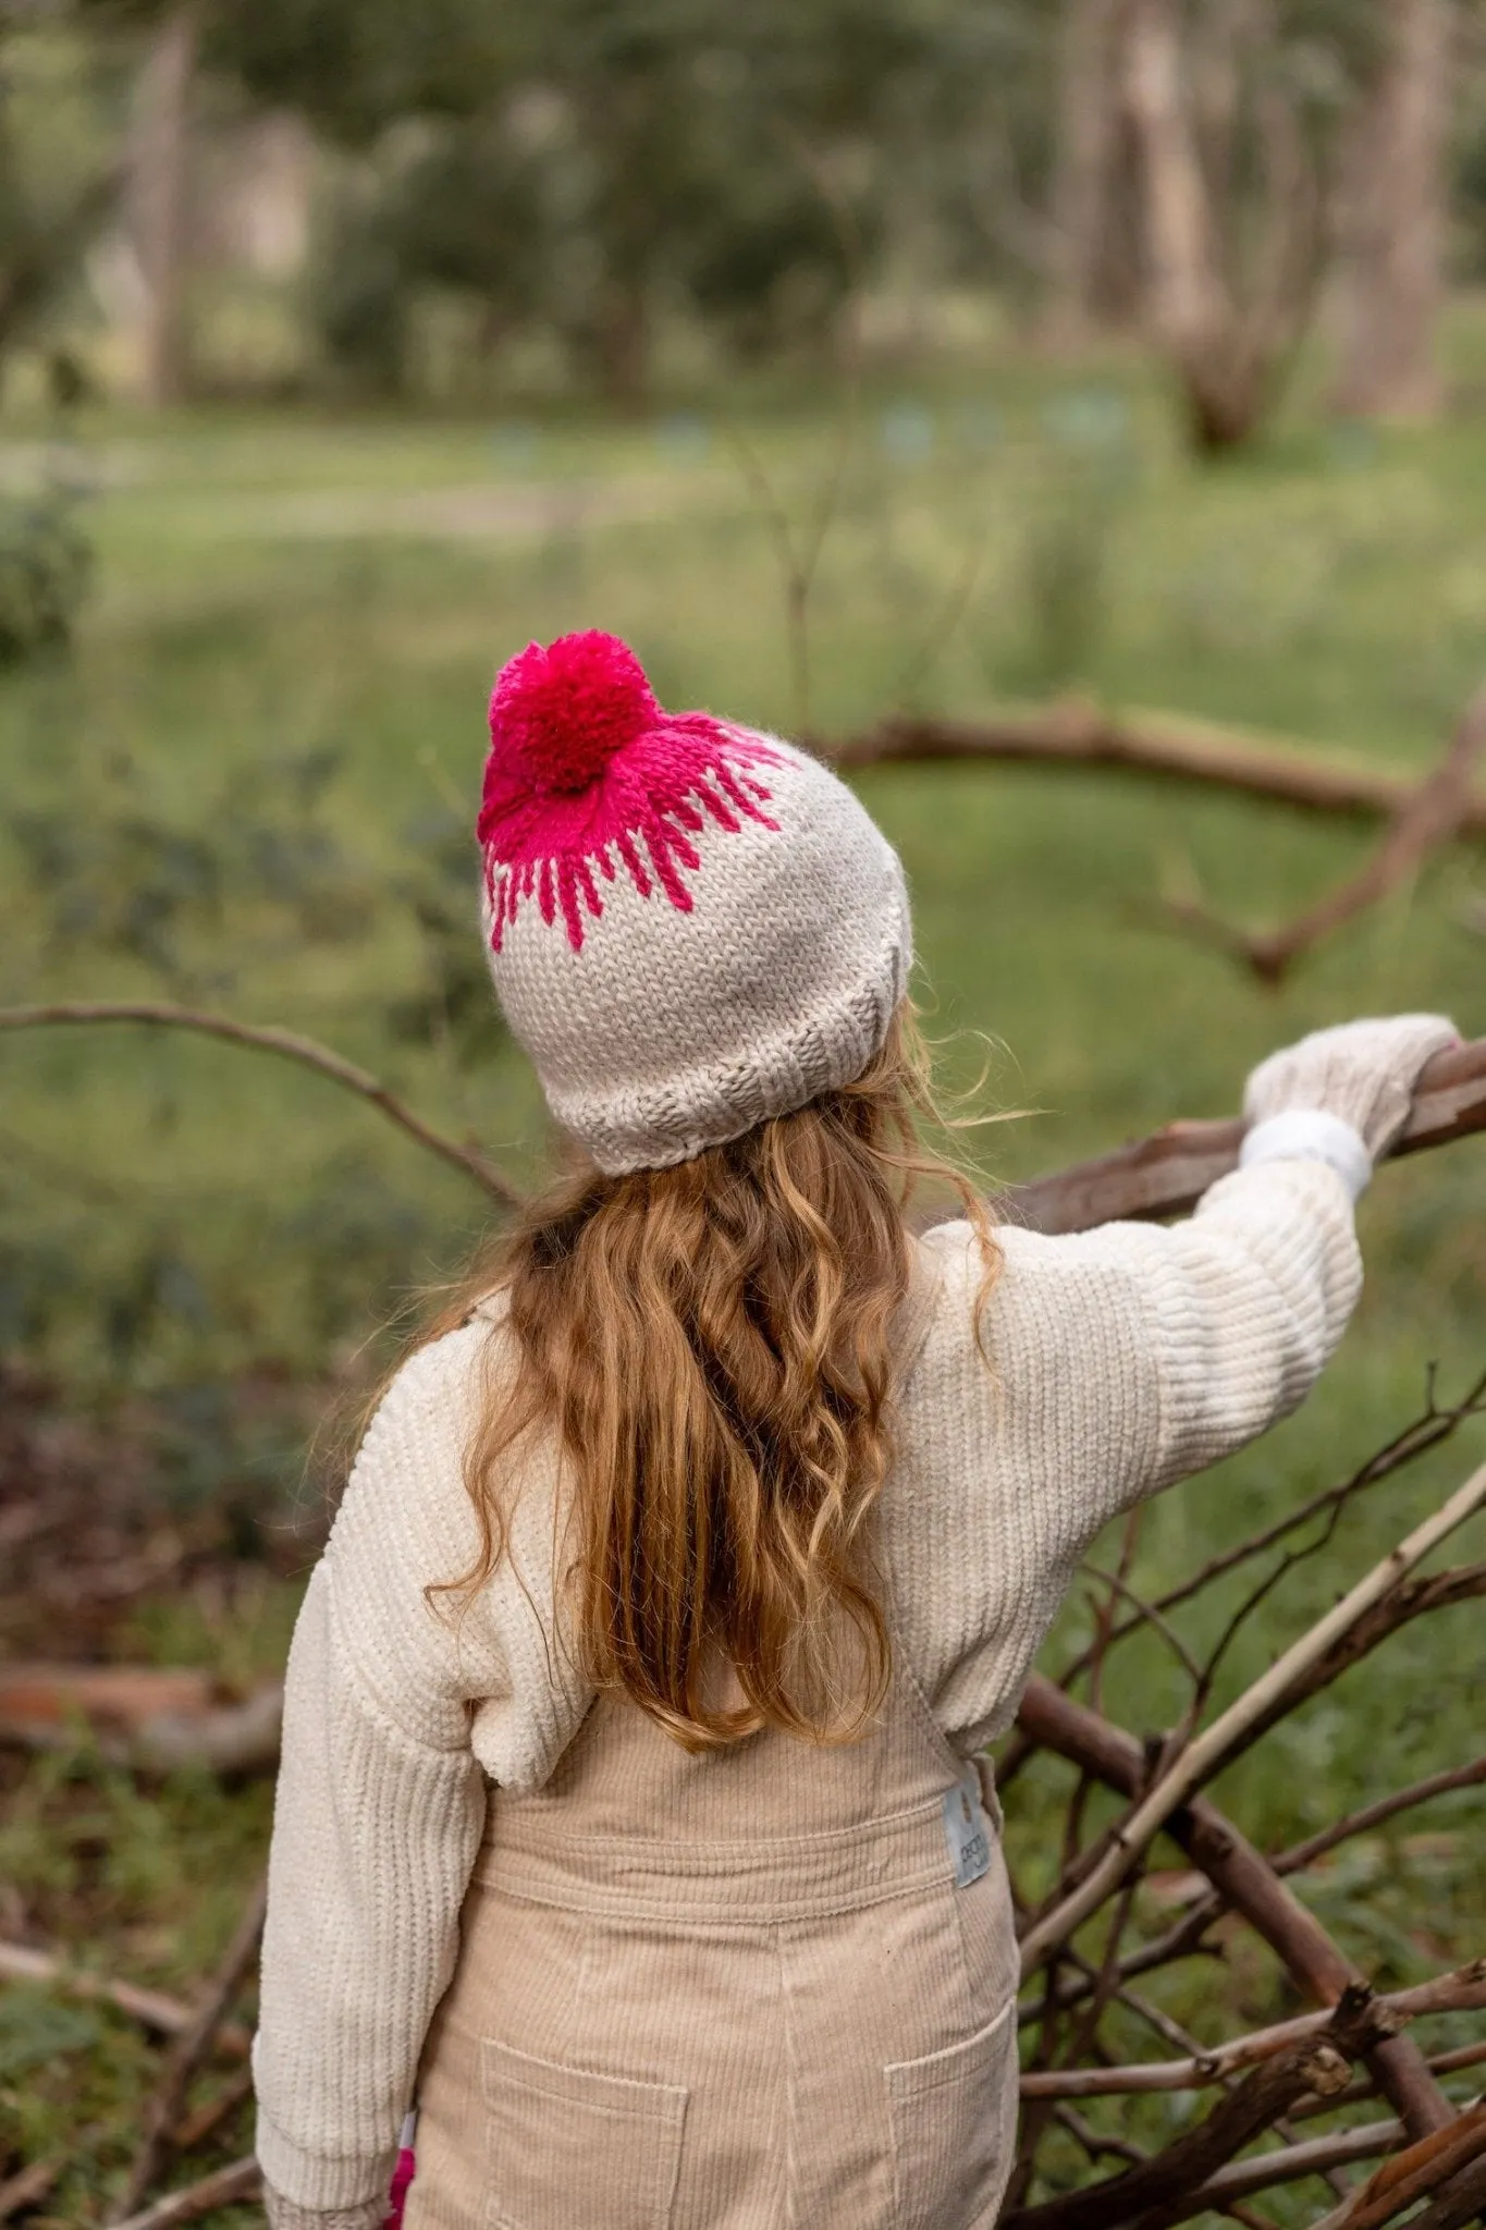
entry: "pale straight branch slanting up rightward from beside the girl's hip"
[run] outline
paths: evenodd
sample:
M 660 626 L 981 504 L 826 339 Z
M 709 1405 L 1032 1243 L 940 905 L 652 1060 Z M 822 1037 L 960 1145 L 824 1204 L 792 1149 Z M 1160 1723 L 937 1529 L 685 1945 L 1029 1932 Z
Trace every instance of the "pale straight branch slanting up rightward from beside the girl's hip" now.
M 1441 1541 L 1446 1541 L 1466 1519 L 1486 1503 L 1486 1465 L 1466 1478 L 1461 1487 L 1408 1539 L 1399 1541 L 1363 1579 L 1310 1632 L 1292 1641 L 1288 1650 L 1257 1679 L 1243 1695 L 1221 1713 L 1187 1748 L 1176 1764 L 1163 1773 L 1156 1786 L 1136 1804 L 1134 1813 L 1112 1831 L 1112 1846 L 1092 1869 L 1085 1882 L 1045 1913 L 1023 1938 L 1023 1971 L 1032 1967 L 1058 1942 L 1074 1933 L 1089 1913 L 1103 1904 L 1112 1889 L 1125 1878 L 1152 1835 L 1159 1833 L 1176 1806 L 1192 1795 L 1219 1766 L 1236 1753 L 1243 1737 L 1272 1724 L 1288 1699 L 1299 1701 L 1301 1684 L 1337 1648 L 1350 1630 L 1375 1610 L 1399 1581 L 1415 1570 Z

